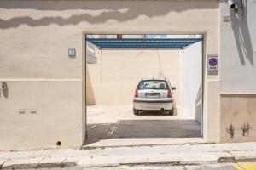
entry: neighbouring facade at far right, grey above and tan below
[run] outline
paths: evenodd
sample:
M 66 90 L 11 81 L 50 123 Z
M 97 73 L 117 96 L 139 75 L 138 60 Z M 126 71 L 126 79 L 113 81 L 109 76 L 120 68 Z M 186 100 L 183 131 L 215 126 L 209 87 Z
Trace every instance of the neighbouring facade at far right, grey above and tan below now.
M 256 140 L 255 15 L 253 0 L 244 1 L 236 13 L 221 1 L 222 142 Z

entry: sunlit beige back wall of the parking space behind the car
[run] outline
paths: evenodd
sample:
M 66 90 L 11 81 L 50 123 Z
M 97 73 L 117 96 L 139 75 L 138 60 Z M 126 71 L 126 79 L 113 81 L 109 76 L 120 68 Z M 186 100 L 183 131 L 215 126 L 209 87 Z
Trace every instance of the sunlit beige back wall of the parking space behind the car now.
M 87 64 L 88 105 L 132 105 L 143 77 L 166 77 L 180 103 L 178 50 L 96 50 L 96 64 Z

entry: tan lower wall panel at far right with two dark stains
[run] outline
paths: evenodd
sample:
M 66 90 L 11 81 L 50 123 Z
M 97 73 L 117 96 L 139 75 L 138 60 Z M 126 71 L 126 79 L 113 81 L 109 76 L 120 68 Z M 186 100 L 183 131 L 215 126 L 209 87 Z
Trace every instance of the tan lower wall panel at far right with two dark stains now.
M 221 142 L 252 142 L 256 94 L 221 94 Z

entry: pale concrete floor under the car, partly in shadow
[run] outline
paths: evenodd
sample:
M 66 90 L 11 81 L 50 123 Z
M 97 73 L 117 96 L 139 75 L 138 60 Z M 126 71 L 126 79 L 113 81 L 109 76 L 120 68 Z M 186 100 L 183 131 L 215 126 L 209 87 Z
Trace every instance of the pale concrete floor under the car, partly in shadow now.
M 142 111 L 132 105 L 87 106 L 88 146 L 202 143 L 201 124 L 182 113 Z

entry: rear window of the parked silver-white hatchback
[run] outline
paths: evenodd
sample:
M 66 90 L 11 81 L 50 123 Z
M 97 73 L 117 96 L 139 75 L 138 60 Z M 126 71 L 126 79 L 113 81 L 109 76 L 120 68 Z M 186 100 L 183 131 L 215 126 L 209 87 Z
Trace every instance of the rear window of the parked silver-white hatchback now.
M 139 83 L 138 89 L 167 89 L 166 81 L 161 80 L 145 80 Z

